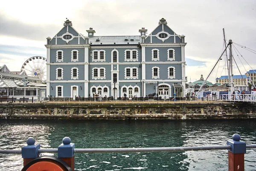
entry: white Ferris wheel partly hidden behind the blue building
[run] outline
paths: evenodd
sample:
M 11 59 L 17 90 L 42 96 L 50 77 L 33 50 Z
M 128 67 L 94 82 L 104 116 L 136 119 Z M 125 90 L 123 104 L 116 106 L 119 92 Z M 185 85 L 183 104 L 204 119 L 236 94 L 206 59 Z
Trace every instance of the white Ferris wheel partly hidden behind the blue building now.
M 27 59 L 20 71 L 25 71 L 28 76 L 36 77 L 42 81 L 46 79 L 46 61 L 42 56 L 33 56 Z

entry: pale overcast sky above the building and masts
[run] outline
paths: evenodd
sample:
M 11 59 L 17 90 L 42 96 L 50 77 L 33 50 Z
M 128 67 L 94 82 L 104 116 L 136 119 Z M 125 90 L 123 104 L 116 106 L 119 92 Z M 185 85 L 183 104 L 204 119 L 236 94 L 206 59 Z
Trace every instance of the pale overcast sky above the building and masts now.
M 46 38 L 63 27 L 66 17 L 81 34 L 93 27 L 96 36 L 140 35 L 141 27 L 150 33 L 165 18 L 186 36 L 186 76 L 192 82 L 201 74 L 206 78 L 221 55 L 223 28 L 227 40 L 256 50 L 256 0 L 9 0 L 0 6 L 0 66 L 18 71 L 26 59 L 46 57 Z M 256 52 L 236 48 L 250 64 L 234 52 L 241 73 L 256 69 Z M 209 81 L 227 74 L 224 61 Z

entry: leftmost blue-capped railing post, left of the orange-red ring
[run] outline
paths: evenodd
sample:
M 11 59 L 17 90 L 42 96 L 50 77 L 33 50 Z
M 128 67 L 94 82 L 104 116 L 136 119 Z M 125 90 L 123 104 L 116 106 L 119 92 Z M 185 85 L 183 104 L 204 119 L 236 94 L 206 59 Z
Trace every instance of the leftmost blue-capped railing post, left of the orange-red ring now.
M 38 150 L 40 149 L 40 144 L 35 145 L 35 139 L 29 137 L 27 139 L 27 145 L 21 148 L 21 156 L 23 158 L 23 166 L 28 164 L 31 160 L 39 156 Z

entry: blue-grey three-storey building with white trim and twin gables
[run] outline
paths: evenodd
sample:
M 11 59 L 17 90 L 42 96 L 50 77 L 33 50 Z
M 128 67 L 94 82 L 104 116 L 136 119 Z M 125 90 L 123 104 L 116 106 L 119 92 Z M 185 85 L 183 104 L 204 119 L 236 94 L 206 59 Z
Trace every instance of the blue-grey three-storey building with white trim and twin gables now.
M 146 36 L 96 36 L 77 32 L 71 21 L 47 38 L 47 96 L 93 97 L 94 94 L 132 98 L 159 93 L 169 99 L 185 96 L 184 35 L 165 19 Z

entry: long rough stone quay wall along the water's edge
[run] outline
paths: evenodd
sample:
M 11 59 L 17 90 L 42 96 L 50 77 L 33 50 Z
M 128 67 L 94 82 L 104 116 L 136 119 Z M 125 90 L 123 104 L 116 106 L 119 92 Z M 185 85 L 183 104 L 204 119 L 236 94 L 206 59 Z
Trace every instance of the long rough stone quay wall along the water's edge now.
M 256 119 L 246 102 L 175 103 L 1 103 L 0 119 L 185 120 Z

